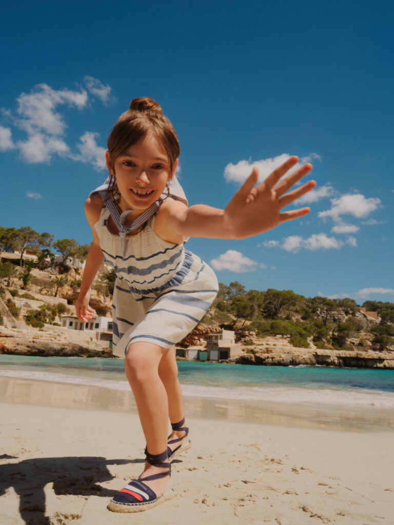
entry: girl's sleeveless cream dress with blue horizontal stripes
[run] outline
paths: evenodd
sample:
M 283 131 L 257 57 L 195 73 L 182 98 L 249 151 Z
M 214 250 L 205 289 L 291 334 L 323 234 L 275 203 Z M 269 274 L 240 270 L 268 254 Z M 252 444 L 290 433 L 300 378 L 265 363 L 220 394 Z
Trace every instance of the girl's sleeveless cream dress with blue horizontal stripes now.
M 107 203 L 95 229 L 103 254 L 116 273 L 112 352 L 124 358 L 129 344 L 137 341 L 171 348 L 211 306 L 218 290 L 216 276 L 183 244 L 161 239 L 154 232 L 155 215 L 141 232 L 130 236 L 109 232 L 110 214 L 121 224 L 116 207 Z

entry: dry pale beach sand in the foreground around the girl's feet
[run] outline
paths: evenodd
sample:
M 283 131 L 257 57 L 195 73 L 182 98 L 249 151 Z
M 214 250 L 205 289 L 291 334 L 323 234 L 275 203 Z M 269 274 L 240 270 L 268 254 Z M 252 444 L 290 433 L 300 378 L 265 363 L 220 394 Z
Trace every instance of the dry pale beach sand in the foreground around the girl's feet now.
M 75 385 L 64 387 L 72 398 Z M 394 523 L 390 430 L 215 421 L 189 410 L 193 446 L 173 461 L 176 496 L 119 514 L 109 499 L 143 467 L 134 411 L 100 409 L 97 398 L 94 407 L 22 404 L 1 391 L 2 525 Z

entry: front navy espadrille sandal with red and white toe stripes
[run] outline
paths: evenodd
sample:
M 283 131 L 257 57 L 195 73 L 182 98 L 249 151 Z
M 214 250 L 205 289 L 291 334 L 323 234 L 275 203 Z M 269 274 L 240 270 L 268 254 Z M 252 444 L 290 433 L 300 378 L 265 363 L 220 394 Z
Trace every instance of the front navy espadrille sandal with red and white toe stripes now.
M 168 462 L 168 453 L 165 450 L 162 454 L 149 454 L 147 452 L 147 461 L 154 467 L 165 467 L 168 470 L 152 474 L 146 478 L 133 479 L 125 488 L 122 488 L 108 503 L 108 509 L 113 512 L 139 512 L 147 510 L 158 505 L 162 501 L 172 498 L 175 493 L 167 485 L 162 496 L 157 496 L 153 490 L 144 484 L 144 481 L 164 478 L 171 475 L 171 465 Z

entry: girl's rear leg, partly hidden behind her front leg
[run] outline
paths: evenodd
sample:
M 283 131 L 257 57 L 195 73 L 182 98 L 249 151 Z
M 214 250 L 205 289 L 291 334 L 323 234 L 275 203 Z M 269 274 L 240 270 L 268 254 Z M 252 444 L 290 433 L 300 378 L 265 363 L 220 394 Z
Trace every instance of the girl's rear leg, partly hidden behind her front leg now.
M 168 414 L 171 423 L 179 423 L 184 416 L 182 389 L 178 380 L 178 365 L 175 359 L 175 346 L 166 350 L 159 363 L 159 376 L 167 392 Z M 183 437 L 183 430 L 172 430 L 171 439 Z M 170 444 L 171 450 L 179 447 L 181 442 Z

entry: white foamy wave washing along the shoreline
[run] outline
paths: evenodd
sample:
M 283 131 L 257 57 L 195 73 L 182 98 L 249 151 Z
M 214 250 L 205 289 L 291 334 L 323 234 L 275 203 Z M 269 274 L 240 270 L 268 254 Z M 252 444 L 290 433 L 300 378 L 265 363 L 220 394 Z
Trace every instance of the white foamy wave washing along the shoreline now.
M 96 379 L 49 372 L 0 370 L 0 375 L 36 381 L 90 385 L 110 390 L 130 391 L 127 381 Z M 394 408 L 394 393 L 365 388 L 307 388 L 295 386 L 202 386 L 182 384 L 184 396 L 237 400 L 240 402 L 306 403 L 338 406 Z

